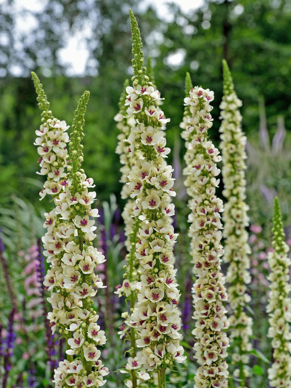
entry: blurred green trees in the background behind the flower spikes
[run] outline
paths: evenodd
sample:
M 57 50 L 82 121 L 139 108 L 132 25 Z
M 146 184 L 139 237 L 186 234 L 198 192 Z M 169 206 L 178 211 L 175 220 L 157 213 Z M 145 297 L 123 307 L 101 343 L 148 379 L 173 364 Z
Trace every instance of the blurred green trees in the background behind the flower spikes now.
M 156 83 L 165 97 L 163 109 L 171 118 L 167 127 L 168 141 L 172 148 L 176 147 L 173 155 L 183 154 L 183 149 L 179 149 L 178 125 L 183 111 L 186 71 L 190 71 L 194 84 L 215 92 L 212 133 L 218 144 L 222 58 L 230 65 L 238 96 L 243 101 L 243 130 L 249 142 L 257 144 L 260 151 L 264 150 L 259 142 L 258 109 L 259 97 L 263 96 L 268 123 L 265 127 L 269 129 L 271 142 L 280 115 L 286 123 L 285 148 L 288 149 L 288 129 L 291 128 L 291 35 L 287 33 L 291 21 L 290 0 L 206 0 L 199 9 L 187 14 L 173 3 L 170 21 L 158 16 L 153 7 L 141 9 L 141 3 L 136 0 L 47 1 L 40 10 L 37 7 L 35 10 L 24 9 L 22 17 L 30 23 L 29 32 L 25 32 L 19 28 L 23 20 L 19 18 L 19 1 L 0 2 L 2 201 L 10 201 L 10 194 L 15 193 L 30 200 L 36 209 L 41 206 L 36 200 L 40 183 L 35 175 L 37 155 L 32 145 L 34 130 L 40 123 L 30 78 L 30 71 L 34 70 L 42 79 L 53 114 L 68 123 L 81 92 L 86 88 L 90 90 L 84 167 L 97 183 L 99 199 L 108 200 L 109 194 L 115 193 L 119 202 L 121 186 L 116 182 L 119 162 L 114 154 L 117 129 L 113 116 L 123 81 L 131 76 L 129 7 L 137 16 L 146 56 L 150 54 L 153 59 Z M 70 77 L 72 69 L 64 59 L 66 40 L 72 34 L 76 39 L 80 34 L 86 39 L 86 66 L 80 77 Z M 80 50 L 83 55 L 81 47 Z M 290 181 L 288 154 L 277 152 L 271 157 L 266 153 L 261 158 L 264 161 L 260 165 L 266 169 L 264 174 L 268 177 L 265 185 L 271 192 L 280 185 L 279 175 L 272 173 L 270 176 L 265 161 L 272 159 L 276 166 L 276 160 L 283 158 L 284 173 L 288 174 L 284 179 Z M 249 165 L 250 170 L 253 164 Z M 253 184 L 251 177 L 249 174 L 249 185 Z M 266 202 L 261 187 L 257 189 L 251 190 L 252 201 L 256 198 L 256 201 Z M 290 223 L 287 200 L 280 199 L 285 221 Z M 268 206 L 266 209 L 270 210 Z M 256 214 L 251 213 L 251 216 L 256 220 Z M 262 216 L 265 218 L 266 214 Z M 267 218 L 270 219 L 270 214 Z

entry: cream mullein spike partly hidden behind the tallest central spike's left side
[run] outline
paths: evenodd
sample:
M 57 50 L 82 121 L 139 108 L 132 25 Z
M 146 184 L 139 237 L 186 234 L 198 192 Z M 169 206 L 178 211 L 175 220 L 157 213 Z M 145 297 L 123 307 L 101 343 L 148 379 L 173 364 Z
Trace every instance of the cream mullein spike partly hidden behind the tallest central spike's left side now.
M 115 293 L 119 297 L 124 296 L 129 300 L 130 310 L 122 313 L 122 318 L 125 319 L 124 323 L 120 326 L 120 338 L 127 339 L 130 342 L 129 349 L 129 358 L 124 370 L 121 372 L 129 373 L 130 378 L 126 379 L 125 385 L 129 388 L 143 387 L 145 386 L 145 381 L 150 378 L 149 374 L 145 372 L 138 364 L 136 357 L 136 339 L 137 333 L 136 328 L 131 325 L 128 325 L 128 317 L 130 313 L 133 312 L 134 306 L 137 301 L 138 291 L 141 289 L 140 283 L 140 264 L 139 260 L 135 257 L 135 245 L 138 241 L 138 229 L 140 227 L 140 220 L 133 217 L 133 208 L 134 208 L 134 199 L 130 198 L 130 189 L 129 189 L 129 173 L 133 166 L 142 156 L 142 153 L 135 149 L 133 153 L 129 153 L 129 145 L 126 142 L 130 135 L 130 129 L 135 127 L 136 120 L 133 116 L 127 117 L 127 106 L 124 104 L 127 97 L 127 90 L 129 88 L 129 81 L 126 80 L 124 83 L 124 90 L 121 94 L 119 100 L 119 113 L 116 114 L 114 120 L 117 122 L 117 129 L 120 130 L 118 134 L 118 145 L 115 152 L 119 155 L 119 160 L 122 165 L 121 179 L 120 182 L 123 183 L 121 190 L 121 198 L 126 199 L 127 203 L 122 212 L 122 218 L 125 225 L 125 246 L 127 249 L 126 255 L 126 265 L 124 266 L 124 280 L 122 285 L 116 286 Z

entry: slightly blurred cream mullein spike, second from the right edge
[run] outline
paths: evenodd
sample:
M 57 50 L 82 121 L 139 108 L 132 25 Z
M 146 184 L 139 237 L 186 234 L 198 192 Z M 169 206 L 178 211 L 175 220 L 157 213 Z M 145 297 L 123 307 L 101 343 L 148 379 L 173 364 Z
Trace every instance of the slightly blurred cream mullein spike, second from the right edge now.
M 242 101 L 238 99 L 226 61 L 223 61 L 224 96 L 220 104 L 222 119 L 220 132 L 222 149 L 223 195 L 226 198 L 223 213 L 225 254 L 224 261 L 229 263 L 226 273 L 228 300 L 232 309 L 229 317 L 231 327 L 229 351 L 235 363 L 234 376 L 239 377 L 240 386 L 245 386 L 248 376 L 249 352 L 252 350 L 250 337 L 253 334 L 253 320 L 246 314 L 246 306 L 251 301 L 247 293 L 247 284 L 251 282 L 249 273 L 251 253 L 248 244 L 247 210 L 245 203 L 245 144 L 242 132 L 242 116 L 239 108 Z

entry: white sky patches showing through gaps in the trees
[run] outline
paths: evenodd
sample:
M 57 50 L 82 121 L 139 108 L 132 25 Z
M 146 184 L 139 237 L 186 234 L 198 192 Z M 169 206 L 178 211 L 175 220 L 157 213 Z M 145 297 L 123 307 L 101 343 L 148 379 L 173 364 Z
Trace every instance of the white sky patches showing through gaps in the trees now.
M 0 3 L 3 0 L 0 0 Z M 158 15 L 161 17 L 161 19 L 170 22 L 173 20 L 173 15 L 168 11 L 168 2 L 174 2 L 177 3 L 182 11 L 189 12 L 190 10 L 194 10 L 199 8 L 201 5 L 203 5 L 204 0 L 141 0 L 140 1 L 140 7 L 141 10 L 146 10 L 148 6 L 154 6 L 157 10 Z M 44 0 L 16 0 L 16 9 L 19 20 L 18 20 L 18 26 L 17 30 L 21 33 L 29 34 L 30 26 L 33 26 L 33 23 L 35 20 L 26 20 L 24 22 L 23 18 L 21 17 L 22 10 L 33 10 L 41 12 L 41 10 L 44 7 L 44 4 L 46 1 Z M 90 27 L 88 26 L 88 31 L 85 33 L 85 35 L 90 36 Z M 59 60 L 62 64 L 66 65 L 67 75 L 68 76 L 81 76 L 84 73 L 84 69 L 88 60 L 89 53 L 86 49 L 86 42 L 85 42 L 85 36 L 84 31 L 77 32 L 74 35 L 67 37 L 67 44 L 63 49 L 59 50 Z M 181 60 L 181 57 L 183 56 L 183 53 L 177 53 L 176 56 L 174 54 L 172 58 L 172 62 L 175 65 L 175 62 L 179 62 Z M 170 59 L 171 60 L 171 59 Z M 19 67 L 19 66 L 18 66 Z M 12 71 L 11 71 L 12 70 Z M 14 75 L 20 76 L 21 75 L 21 68 L 10 69 Z M 49 74 L 48 74 L 49 75 Z M 93 75 L 93 74 L 92 74 Z

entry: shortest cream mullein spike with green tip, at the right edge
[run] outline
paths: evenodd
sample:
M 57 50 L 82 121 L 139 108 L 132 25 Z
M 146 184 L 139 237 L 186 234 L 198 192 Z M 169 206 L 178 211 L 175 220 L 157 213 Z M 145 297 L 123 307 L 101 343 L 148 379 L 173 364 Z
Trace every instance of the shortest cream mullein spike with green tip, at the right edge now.
M 272 339 L 274 349 L 274 362 L 268 369 L 270 387 L 291 387 L 291 298 L 290 298 L 290 267 L 288 258 L 288 245 L 285 243 L 282 215 L 279 200 L 274 202 L 273 216 L 273 241 L 274 251 L 269 252 L 269 265 L 271 273 L 270 294 L 267 305 L 269 314 L 268 337 Z

